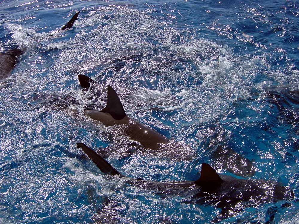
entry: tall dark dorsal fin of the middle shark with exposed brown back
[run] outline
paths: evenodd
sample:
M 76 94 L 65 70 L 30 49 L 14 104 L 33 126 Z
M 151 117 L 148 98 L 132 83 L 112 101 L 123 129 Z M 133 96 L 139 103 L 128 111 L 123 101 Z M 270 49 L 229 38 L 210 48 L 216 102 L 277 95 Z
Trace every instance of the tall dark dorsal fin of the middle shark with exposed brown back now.
M 121 120 L 126 116 L 117 93 L 110 85 L 107 91 L 107 105 L 101 112 L 109 113 L 115 120 Z

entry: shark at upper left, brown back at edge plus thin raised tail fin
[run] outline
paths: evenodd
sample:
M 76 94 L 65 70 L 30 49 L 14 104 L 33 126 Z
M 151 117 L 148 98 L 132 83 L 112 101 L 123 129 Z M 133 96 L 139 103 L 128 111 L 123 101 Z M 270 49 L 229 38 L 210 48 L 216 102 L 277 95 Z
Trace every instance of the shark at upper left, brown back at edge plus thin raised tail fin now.
M 78 19 L 80 11 L 75 13 L 74 16 L 63 26 L 60 30 L 70 29 L 75 20 Z M 6 52 L 0 53 L 0 82 L 4 81 L 11 75 L 12 70 L 19 62 L 19 57 L 24 53 L 25 49 L 12 48 Z

